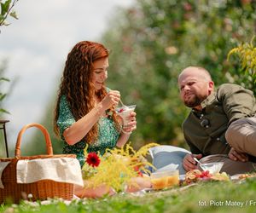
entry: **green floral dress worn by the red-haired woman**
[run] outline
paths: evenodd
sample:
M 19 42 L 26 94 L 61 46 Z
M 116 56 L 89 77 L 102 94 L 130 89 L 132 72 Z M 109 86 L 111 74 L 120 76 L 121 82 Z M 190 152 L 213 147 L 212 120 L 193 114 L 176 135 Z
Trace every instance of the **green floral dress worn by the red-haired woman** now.
M 61 139 L 64 142 L 64 147 L 62 153 L 65 154 L 76 154 L 81 167 L 84 165 L 84 147 L 86 147 L 85 141 L 79 141 L 74 145 L 68 145 L 63 137 L 63 132 L 65 129 L 70 127 L 75 123 L 73 114 L 70 111 L 67 99 L 64 95 L 61 96 L 60 101 L 60 114 L 57 120 L 57 125 L 60 129 Z M 99 135 L 97 141 L 89 144 L 87 149 L 88 153 L 99 152 L 101 154 L 105 153 L 107 148 L 113 148 L 119 139 L 119 132 L 115 127 L 112 118 L 100 118 L 98 121 Z

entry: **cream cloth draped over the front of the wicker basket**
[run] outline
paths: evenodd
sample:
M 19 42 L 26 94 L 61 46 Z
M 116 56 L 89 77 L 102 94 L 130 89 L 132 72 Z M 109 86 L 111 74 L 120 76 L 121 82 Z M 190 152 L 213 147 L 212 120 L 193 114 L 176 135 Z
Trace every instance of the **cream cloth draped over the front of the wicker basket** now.
M 84 186 L 80 164 L 76 158 L 42 158 L 18 161 L 18 183 L 32 183 L 41 180 Z

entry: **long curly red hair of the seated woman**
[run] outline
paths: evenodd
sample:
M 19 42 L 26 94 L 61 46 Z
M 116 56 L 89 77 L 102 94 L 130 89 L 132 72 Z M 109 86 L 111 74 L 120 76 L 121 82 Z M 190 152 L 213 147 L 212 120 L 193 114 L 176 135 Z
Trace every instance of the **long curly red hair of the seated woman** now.
M 55 105 L 54 130 L 56 135 L 60 135 L 56 123 L 59 118 L 59 107 L 62 95 L 66 96 L 70 110 L 76 121 L 83 118 L 84 115 L 95 107 L 95 94 L 100 101 L 107 95 L 105 85 L 102 86 L 102 89 L 96 91 L 91 80 L 93 62 L 108 58 L 108 55 L 108 49 L 106 49 L 102 43 L 88 41 L 77 43 L 67 55 L 66 65 L 61 78 Z M 110 109 L 110 111 L 113 112 L 112 118 L 118 128 L 119 123 L 117 115 L 113 108 Z M 84 140 L 88 143 L 92 143 L 96 140 L 97 135 L 98 125 L 95 124 L 84 136 Z

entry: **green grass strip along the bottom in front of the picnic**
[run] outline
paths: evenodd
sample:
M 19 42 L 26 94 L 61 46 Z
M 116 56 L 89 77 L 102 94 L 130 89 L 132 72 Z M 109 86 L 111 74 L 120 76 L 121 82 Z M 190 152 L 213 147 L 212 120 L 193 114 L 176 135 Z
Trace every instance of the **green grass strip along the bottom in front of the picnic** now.
M 2 205 L 0 212 L 255 212 L 255 191 L 256 179 L 241 183 L 210 181 L 142 196 L 118 194 L 103 199 L 82 199 L 71 204 L 56 199 L 50 204 L 24 201 L 19 205 Z

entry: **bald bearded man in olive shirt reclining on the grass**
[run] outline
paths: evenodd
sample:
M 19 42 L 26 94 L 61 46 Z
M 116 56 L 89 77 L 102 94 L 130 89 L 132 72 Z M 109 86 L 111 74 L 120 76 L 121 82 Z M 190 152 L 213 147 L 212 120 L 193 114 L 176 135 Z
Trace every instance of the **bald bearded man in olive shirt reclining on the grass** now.
M 198 66 L 185 68 L 178 76 L 178 85 L 184 105 L 191 108 L 183 122 L 184 138 L 191 151 L 183 158 L 184 170 L 197 168 L 194 158 L 202 163 L 223 161 L 222 171 L 230 175 L 255 170 L 256 164 L 252 162 L 256 156 L 256 130 L 254 127 L 252 130 L 252 122 L 256 121 L 253 92 L 232 83 L 224 83 L 215 90 L 210 73 Z M 248 119 L 252 119 L 250 124 Z M 238 131 L 242 125 L 244 129 Z

